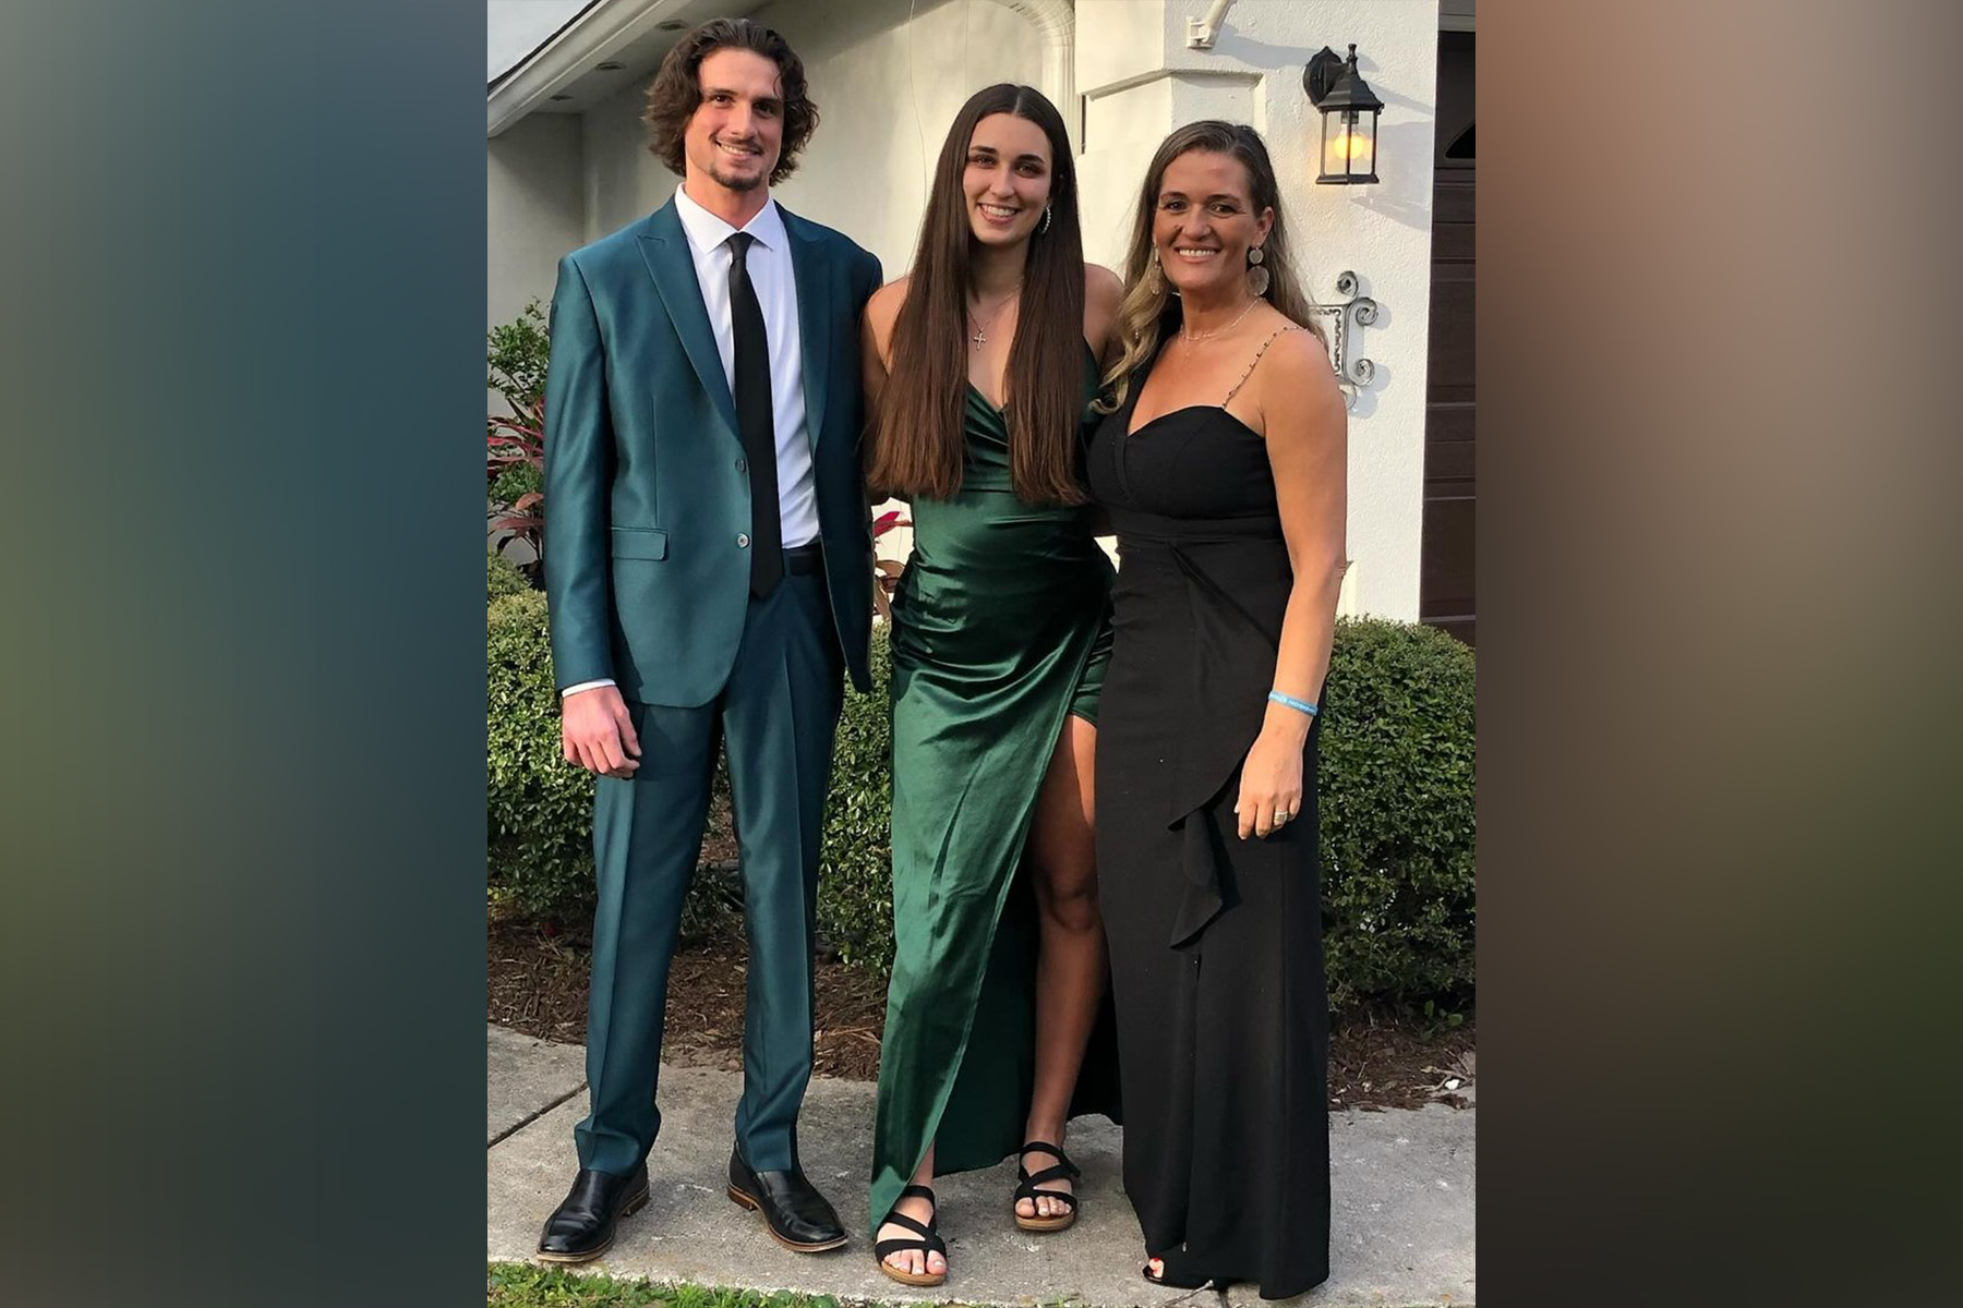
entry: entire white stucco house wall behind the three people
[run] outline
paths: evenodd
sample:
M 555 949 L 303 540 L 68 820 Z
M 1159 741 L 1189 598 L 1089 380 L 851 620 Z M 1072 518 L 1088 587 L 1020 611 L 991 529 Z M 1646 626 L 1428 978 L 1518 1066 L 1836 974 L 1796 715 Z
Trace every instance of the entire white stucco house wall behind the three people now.
M 905 271 L 934 153 L 962 100 L 995 80 L 1044 84 L 1044 43 L 1001 0 L 773 0 L 756 18 L 805 59 L 821 124 L 783 204 L 850 233 Z M 1237 0 L 1211 51 L 1186 47 L 1205 0 L 1076 0 L 1086 257 L 1117 267 L 1152 149 L 1195 118 L 1250 122 L 1282 180 L 1305 290 L 1335 298 L 1353 269 L 1378 320 L 1353 353 L 1376 378 L 1351 410 L 1351 577 L 1343 610 L 1415 620 L 1421 565 L 1425 349 L 1431 284 L 1435 0 Z M 1301 69 L 1354 41 L 1386 102 L 1376 186 L 1317 186 L 1321 116 Z M 534 114 L 491 141 L 491 308 L 508 320 L 550 296 L 557 257 L 667 200 L 646 149 L 646 78 L 579 118 Z M 506 175 L 501 178 L 501 147 Z M 520 180 L 520 173 L 528 180 Z M 503 190 L 501 190 L 503 186 Z M 571 198 L 567 198 L 571 196 Z M 503 314 L 503 316 L 501 316 Z M 881 541 L 895 557 L 905 533 Z

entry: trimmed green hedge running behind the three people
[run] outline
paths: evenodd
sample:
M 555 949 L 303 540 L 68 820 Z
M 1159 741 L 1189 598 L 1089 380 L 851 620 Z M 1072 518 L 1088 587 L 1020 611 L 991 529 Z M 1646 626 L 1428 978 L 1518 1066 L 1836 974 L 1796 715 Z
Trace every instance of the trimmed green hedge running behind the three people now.
M 824 812 L 819 933 L 842 959 L 893 957 L 891 655 L 874 631 L 872 694 L 848 690 Z M 1470 996 L 1474 659 L 1431 628 L 1345 620 L 1325 690 L 1321 835 L 1329 994 Z M 493 892 L 534 916 L 591 914 L 593 780 L 559 753 L 544 596 L 491 604 Z M 726 930 L 730 888 L 697 877 L 685 931 Z

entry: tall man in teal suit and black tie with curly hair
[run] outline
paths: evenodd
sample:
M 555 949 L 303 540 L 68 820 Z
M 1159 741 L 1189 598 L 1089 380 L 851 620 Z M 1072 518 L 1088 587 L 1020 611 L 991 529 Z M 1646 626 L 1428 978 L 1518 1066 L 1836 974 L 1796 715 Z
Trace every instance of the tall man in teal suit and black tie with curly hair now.
M 715 20 L 648 90 L 681 175 L 559 263 L 546 380 L 546 594 L 571 763 L 599 775 L 579 1175 L 540 1257 L 603 1253 L 648 1196 L 667 965 L 728 745 L 750 933 L 730 1198 L 799 1251 L 846 1243 L 797 1161 L 811 930 L 840 669 L 870 688 L 858 320 L 879 261 L 783 212 L 817 126 L 783 37 Z

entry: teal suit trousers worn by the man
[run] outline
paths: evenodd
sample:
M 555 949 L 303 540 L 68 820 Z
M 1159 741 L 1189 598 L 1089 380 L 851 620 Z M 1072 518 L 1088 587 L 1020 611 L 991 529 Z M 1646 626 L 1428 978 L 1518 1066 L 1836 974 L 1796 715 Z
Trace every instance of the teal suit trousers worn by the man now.
M 628 780 L 601 777 L 593 806 L 599 910 L 587 1008 L 591 1112 L 575 1132 L 581 1167 L 628 1173 L 660 1133 L 667 965 L 724 737 L 750 935 L 736 1143 L 758 1171 L 795 1163 L 797 1110 L 811 1081 L 819 837 L 842 694 L 824 575 L 807 573 L 750 600 L 736 665 L 715 700 L 628 704 L 640 771 Z

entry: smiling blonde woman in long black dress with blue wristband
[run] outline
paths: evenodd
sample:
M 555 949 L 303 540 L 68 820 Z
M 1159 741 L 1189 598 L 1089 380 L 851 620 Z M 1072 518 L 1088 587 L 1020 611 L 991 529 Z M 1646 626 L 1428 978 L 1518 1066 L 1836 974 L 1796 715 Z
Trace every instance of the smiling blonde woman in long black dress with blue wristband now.
M 1139 200 L 1109 416 L 1119 537 L 1097 867 L 1150 1281 L 1329 1277 L 1315 704 L 1345 547 L 1345 406 L 1268 151 L 1201 122 Z

